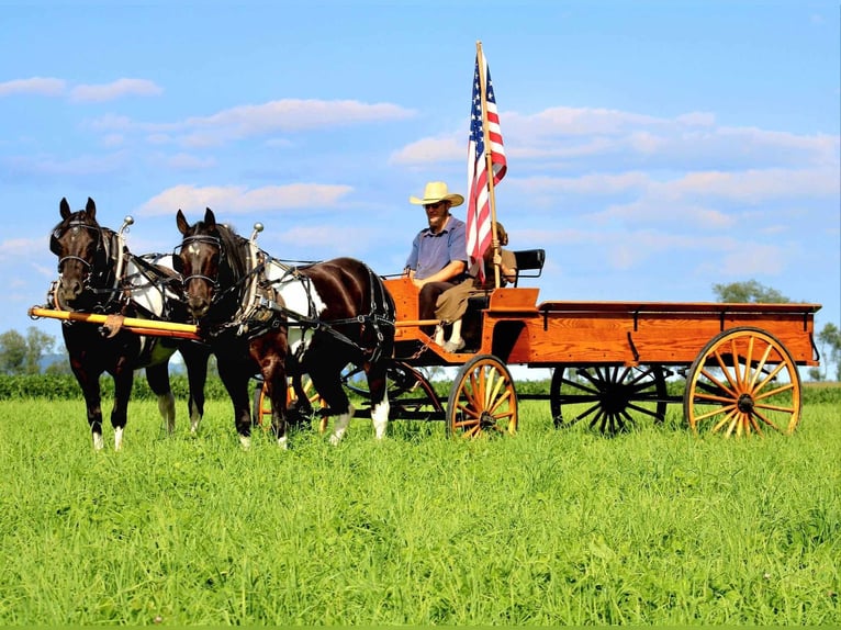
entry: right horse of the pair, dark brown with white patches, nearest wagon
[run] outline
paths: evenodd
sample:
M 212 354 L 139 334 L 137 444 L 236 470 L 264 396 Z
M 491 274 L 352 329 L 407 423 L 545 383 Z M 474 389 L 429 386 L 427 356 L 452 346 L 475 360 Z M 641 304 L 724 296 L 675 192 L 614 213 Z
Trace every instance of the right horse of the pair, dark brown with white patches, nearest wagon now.
M 289 267 L 250 240 L 216 223 L 211 209 L 189 225 L 177 215 L 183 239 L 173 259 L 187 305 L 200 334 L 216 355 L 218 373 L 234 404 L 234 423 L 245 448 L 250 445 L 248 381 L 260 374 L 271 400 L 272 429 L 287 447 L 287 376 L 298 400 L 301 374 L 309 374 L 337 416 L 330 441 L 344 436 L 354 406 L 340 374 L 361 368 L 371 394 L 377 438 L 385 435 L 389 400 L 385 371 L 394 348 L 394 302 L 382 280 L 352 258 Z

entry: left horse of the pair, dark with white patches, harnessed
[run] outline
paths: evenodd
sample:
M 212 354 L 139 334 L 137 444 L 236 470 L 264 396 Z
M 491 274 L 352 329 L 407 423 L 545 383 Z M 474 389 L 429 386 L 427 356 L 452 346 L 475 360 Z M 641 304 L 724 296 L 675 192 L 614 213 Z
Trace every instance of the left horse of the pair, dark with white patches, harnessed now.
M 169 385 L 169 359 L 179 350 L 190 382 L 191 428 L 198 429 L 204 413 L 204 383 L 210 350 L 203 345 L 164 337 L 136 335 L 120 329 L 120 316 L 186 320 L 183 301 L 169 289 L 177 280 L 162 257 L 133 256 L 119 233 L 97 223 L 97 205 L 88 198 L 85 210 L 71 212 L 67 199 L 59 204 L 61 222 L 49 238 L 49 249 L 58 256 L 58 281 L 51 290 L 51 302 L 61 311 L 113 315 L 100 329 L 85 322 L 64 322 L 61 334 L 70 368 L 85 396 L 88 423 L 97 450 L 102 439 L 100 375 L 114 379 L 114 449 L 120 450 L 125 429 L 134 370 L 146 368 L 149 387 L 158 396 L 158 409 L 175 429 L 175 397 Z M 171 261 L 170 261 L 171 262 Z M 175 282 L 178 284 L 177 282 Z

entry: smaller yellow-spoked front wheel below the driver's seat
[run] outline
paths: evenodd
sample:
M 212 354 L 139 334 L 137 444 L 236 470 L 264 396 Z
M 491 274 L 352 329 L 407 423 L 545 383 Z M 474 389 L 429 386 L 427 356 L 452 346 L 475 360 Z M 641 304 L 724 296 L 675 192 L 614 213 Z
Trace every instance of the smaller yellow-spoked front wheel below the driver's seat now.
M 493 355 L 476 355 L 458 372 L 447 403 L 447 432 L 473 438 L 517 431 L 517 392 L 508 368 Z

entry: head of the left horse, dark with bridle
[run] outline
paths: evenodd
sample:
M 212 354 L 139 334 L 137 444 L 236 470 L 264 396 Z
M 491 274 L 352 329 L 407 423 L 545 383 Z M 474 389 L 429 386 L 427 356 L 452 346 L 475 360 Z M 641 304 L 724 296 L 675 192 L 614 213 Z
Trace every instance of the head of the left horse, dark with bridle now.
M 67 199 L 59 204 L 61 222 L 53 228 L 49 249 L 58 257 L 56 299 L 72 307 L 99 275 L 106 272 L 108 251 L 103 228 L 97 223 L 97 204 L 88 198 L 85 210 L 72 212 Z

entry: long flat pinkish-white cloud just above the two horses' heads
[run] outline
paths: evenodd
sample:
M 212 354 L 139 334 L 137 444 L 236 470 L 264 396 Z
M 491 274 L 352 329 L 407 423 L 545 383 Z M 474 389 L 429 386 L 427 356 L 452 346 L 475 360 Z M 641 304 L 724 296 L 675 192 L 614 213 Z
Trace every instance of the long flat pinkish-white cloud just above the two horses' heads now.
M 246 187 L 176 185 L 152 198 L 138 210 L 142 216 L 204 212 L 205 207 L 225 214 L 245 214 L 260 211 L 332 207 L 349 194 L 352 188 L 340 184 L 293 183 L 247 190 Z

